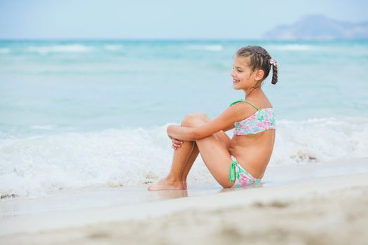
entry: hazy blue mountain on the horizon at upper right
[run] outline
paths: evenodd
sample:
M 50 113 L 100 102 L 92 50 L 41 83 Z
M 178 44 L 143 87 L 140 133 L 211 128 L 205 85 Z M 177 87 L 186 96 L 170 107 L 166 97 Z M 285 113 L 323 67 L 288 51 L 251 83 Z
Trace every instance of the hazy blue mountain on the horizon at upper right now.
M 351 23 L 323 15 L 307 15 L 293 25 L 280 25 L 263 38 L 273 40 L 350 40 L 368 39 L 368 22 Z

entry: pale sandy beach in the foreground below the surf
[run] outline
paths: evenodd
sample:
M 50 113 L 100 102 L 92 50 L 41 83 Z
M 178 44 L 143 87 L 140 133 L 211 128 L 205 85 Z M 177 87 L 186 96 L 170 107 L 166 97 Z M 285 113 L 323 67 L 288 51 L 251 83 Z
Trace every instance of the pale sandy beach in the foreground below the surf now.
M 165 194 L 166 193 L 166 194 Z M 14 216 L 1 244 L 367 244 L 368 174 Z M 174 198 L 175 197 L 175 198 Z M 96 197 L 98 198 L 98 196 Z

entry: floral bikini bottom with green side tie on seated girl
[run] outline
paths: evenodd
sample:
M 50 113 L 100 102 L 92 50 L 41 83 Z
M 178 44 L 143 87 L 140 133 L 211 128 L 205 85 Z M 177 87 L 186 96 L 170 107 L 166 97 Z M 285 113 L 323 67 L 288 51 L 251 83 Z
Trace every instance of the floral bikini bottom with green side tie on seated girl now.
M 235 179 L 233 188 L 244 187 L 253 183 L 261 183 L 261 179 L 254 178 L 252 174 L 250 174 L 250 172 L 247 172 L 247 170 L 241 167 L 241 165 L 233 155 L 231 155 L 231 159 L 233 160 L 233 162 L 231 162 L 230 165 L 230 182 Z

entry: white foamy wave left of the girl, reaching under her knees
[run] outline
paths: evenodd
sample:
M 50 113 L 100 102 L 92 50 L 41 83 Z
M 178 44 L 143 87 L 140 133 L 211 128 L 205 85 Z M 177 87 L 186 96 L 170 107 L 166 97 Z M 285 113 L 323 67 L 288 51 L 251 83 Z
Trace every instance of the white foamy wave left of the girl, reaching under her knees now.
M 145 183 L 167 174 L 172 151 L 165 127 L 7 137 L 0 141 L 0 194 Z M 192 179 L 210 175 L 203 165 L 193 169 Z

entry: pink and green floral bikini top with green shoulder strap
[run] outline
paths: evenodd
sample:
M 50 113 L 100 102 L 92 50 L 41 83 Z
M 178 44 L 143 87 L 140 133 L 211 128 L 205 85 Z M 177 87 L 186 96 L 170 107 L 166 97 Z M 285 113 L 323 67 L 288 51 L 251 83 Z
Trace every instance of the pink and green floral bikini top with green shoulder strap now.
M 236 102 L 230 104 L 236 104 L 238 102 L 247 102 L 244 99 L 239 99 Z M 235 130 L 234 134 L 243 135 L 243 134 L 258 134 L 260 132 L 264 132 L 266 130 L 275 129 L 275 116 L 273 113 L 273 108 L 264 108 L 258 109 L 252 103 L 247 102 L 251 106 L 253 106 L 257 111 L 245 118 L 244 120 L 238 121 L 234 123 Z

